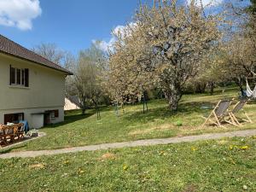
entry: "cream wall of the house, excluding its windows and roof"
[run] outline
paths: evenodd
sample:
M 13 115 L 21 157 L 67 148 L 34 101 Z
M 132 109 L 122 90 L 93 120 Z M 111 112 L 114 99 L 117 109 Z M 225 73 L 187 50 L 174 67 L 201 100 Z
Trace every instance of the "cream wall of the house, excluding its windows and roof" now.
M 9 85 L 9 67 L 29 68 L 29 87 Z M 59 109 L 54 122 L 64 120 L 65 74 L 0 54 L 0 123 L 5 113 L 24 113 L 32 126 L 32 113 Z

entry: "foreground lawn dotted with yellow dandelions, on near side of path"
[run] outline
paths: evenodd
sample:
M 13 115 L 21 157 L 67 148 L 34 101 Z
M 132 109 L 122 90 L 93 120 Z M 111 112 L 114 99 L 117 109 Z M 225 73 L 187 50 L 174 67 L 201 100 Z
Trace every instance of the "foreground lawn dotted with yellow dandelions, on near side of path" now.
M 256 136 L 0 160 L 0 191 L 256 191 Z

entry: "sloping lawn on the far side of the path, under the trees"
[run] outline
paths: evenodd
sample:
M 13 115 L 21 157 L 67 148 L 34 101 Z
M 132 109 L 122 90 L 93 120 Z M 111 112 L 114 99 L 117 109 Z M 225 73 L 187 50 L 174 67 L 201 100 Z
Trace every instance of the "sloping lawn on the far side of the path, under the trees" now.
M 170 111 L 165 100 L 150 101 L 147 113 L 143 113 L 141 104 L 125 106 L 125 113 L 119 110 L 119 117 L 116 116 L 113 107 L 102 108 L 100 120 L 96 119 L 93 110 L 88 110 L 85 115 L 82 115 L 80 111 L 68 112 L 65 122 L 40 130 L 47 133 L 46 137 L 20 144 L 14 148 L 3 149 L 0 153 L 255 128 L 256 122 L 244 124 L 241 127 L 232 125 L 226 125 L 226 128 L 201 127 L 204 122 L 201 116 L 208 114 L 211 110 L 201 107 L 215 106 L 219 99 L 237 97 L 237 94 L 237 89 L 233 88 L 226 90 L 224 94 L 218 91 L 214 96 L 185 95 L 177 112 Z M 256 104 L 253 102 L 247 104 L 245 111 L 253 119 L 256 115 Z

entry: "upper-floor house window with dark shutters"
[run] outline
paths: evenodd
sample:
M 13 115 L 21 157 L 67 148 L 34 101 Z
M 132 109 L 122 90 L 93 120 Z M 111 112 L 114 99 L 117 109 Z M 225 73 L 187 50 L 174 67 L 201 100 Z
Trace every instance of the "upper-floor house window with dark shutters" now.
M 29 86 L 28 68 L 15 68 L 10 66 L 10 85 Z

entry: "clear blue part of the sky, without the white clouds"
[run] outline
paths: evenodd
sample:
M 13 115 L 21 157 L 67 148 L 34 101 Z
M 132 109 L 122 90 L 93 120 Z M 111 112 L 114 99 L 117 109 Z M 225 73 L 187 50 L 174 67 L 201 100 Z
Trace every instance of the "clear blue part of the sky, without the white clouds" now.
M 137 0 L 40 0 L 40 8 L 32 29 L 0 25 L 0 33 L 26 48 L 55 43 L 76 53 L 93 39 L 108 41 L 114 27 L 131 21 Z

